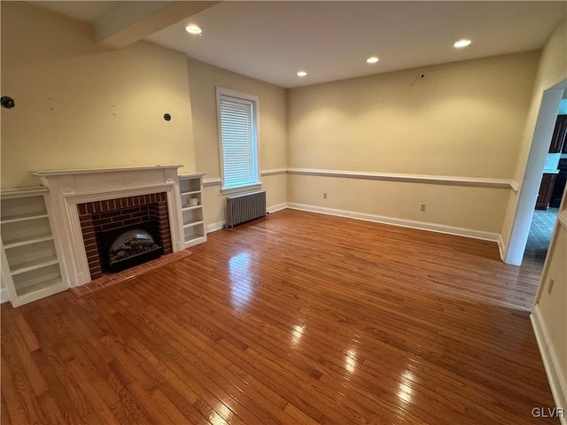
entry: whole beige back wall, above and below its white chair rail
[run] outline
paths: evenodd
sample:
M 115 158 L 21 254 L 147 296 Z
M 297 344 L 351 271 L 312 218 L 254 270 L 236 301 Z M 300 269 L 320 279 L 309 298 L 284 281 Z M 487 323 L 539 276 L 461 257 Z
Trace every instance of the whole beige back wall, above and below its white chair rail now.
M 291 89 L 289 166 L 510 179 L 538 58 L 525 52 Z M 288 185 L 289 202 L 495 233 L 510 191 L 300 175 Z

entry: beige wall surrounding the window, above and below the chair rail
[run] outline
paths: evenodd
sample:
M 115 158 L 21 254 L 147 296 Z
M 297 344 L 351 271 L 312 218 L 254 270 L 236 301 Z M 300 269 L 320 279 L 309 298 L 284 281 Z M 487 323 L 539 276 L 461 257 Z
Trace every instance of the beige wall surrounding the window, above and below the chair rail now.
M 259 141 L 260 170 L 287 166 L 286 93 L 285 89 L 231 73 L 216 66 L 188 59 L 190 99 L 193 113 L 193 136 L 197 169 L 205 179 L 220 179 L 219 134 L 215 88 L 231 89 L 260 97 Z M 262 176 L 268 207 L 285 202 L 285 174 Z M 219 184 L 206 188 L 206 222 L 211 225 L 225 220 L 224 198 Z

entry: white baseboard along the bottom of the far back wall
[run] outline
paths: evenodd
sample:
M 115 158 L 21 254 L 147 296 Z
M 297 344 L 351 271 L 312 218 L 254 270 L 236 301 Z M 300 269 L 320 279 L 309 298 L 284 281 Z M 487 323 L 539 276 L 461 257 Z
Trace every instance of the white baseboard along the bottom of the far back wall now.
M 288 202 L 287 207 L 293 210 L 309 211 L 311 213 L 338 215 L 339 217 L 347 217 L 350 219 L 374 221 L 382 224 L 391 224 L 392 226 L 400 226 L 402 228 L 417 228 L 419 230 L 428 230 L 431 232 L 445 233 L 448 235 L 467 236 L 474 239 L 482 239 L 484 241 L 491 241 L 496 243 L 499 243 L 499 240 L 501 240 L 501 235 L 498 233 L 483 232 L 481 230 L 474 230 L 471 228 L 455 228 L 453 226 L 429 223 L 426 221 L 395 219 L 392 217 L 385 217 L 382 215 L 355 213 L 353 211 L 336 210 L 334 208 L 327 208 L 324 206 L 295 204 L 293 202 Z

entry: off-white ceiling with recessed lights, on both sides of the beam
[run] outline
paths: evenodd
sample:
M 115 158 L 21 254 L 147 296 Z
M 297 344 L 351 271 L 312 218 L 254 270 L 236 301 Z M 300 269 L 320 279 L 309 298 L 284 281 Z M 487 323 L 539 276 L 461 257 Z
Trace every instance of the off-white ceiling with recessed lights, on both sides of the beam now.
M 96 23 L 125 2 L 29 2 Z M 133 2 L 127 2 L 133 3 Z M 223 2 L 145 40 L 284 88 L 540 49 L 567 2 Z M 203 35 L 189 35 L 198 24 Z M 470 38 L 470 47 L 453 43 Z M 368 65 L 366 58 L 380 61 Z M 299 79 L 296 73 L 307 71 Z

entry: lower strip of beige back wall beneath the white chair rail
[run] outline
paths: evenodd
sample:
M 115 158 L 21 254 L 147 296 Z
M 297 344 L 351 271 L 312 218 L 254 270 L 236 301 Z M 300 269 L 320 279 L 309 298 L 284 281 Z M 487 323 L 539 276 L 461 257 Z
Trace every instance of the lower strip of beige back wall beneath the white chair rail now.
M 493 216 L 501 217 L 506 210 L 507 192 L 508 189 L 374 182 L 315 175 L 288 177 L 288 200 L 292 203 L 489 233 L 500 232 L 499 223 Z M 328 197 L 323 199 L 322 193 L 327 193 Z M 459 199 L 461 214 L 454 213 L 455 199 Z M 424 212 L 419 210 L 420 204 L 427 205 Z

